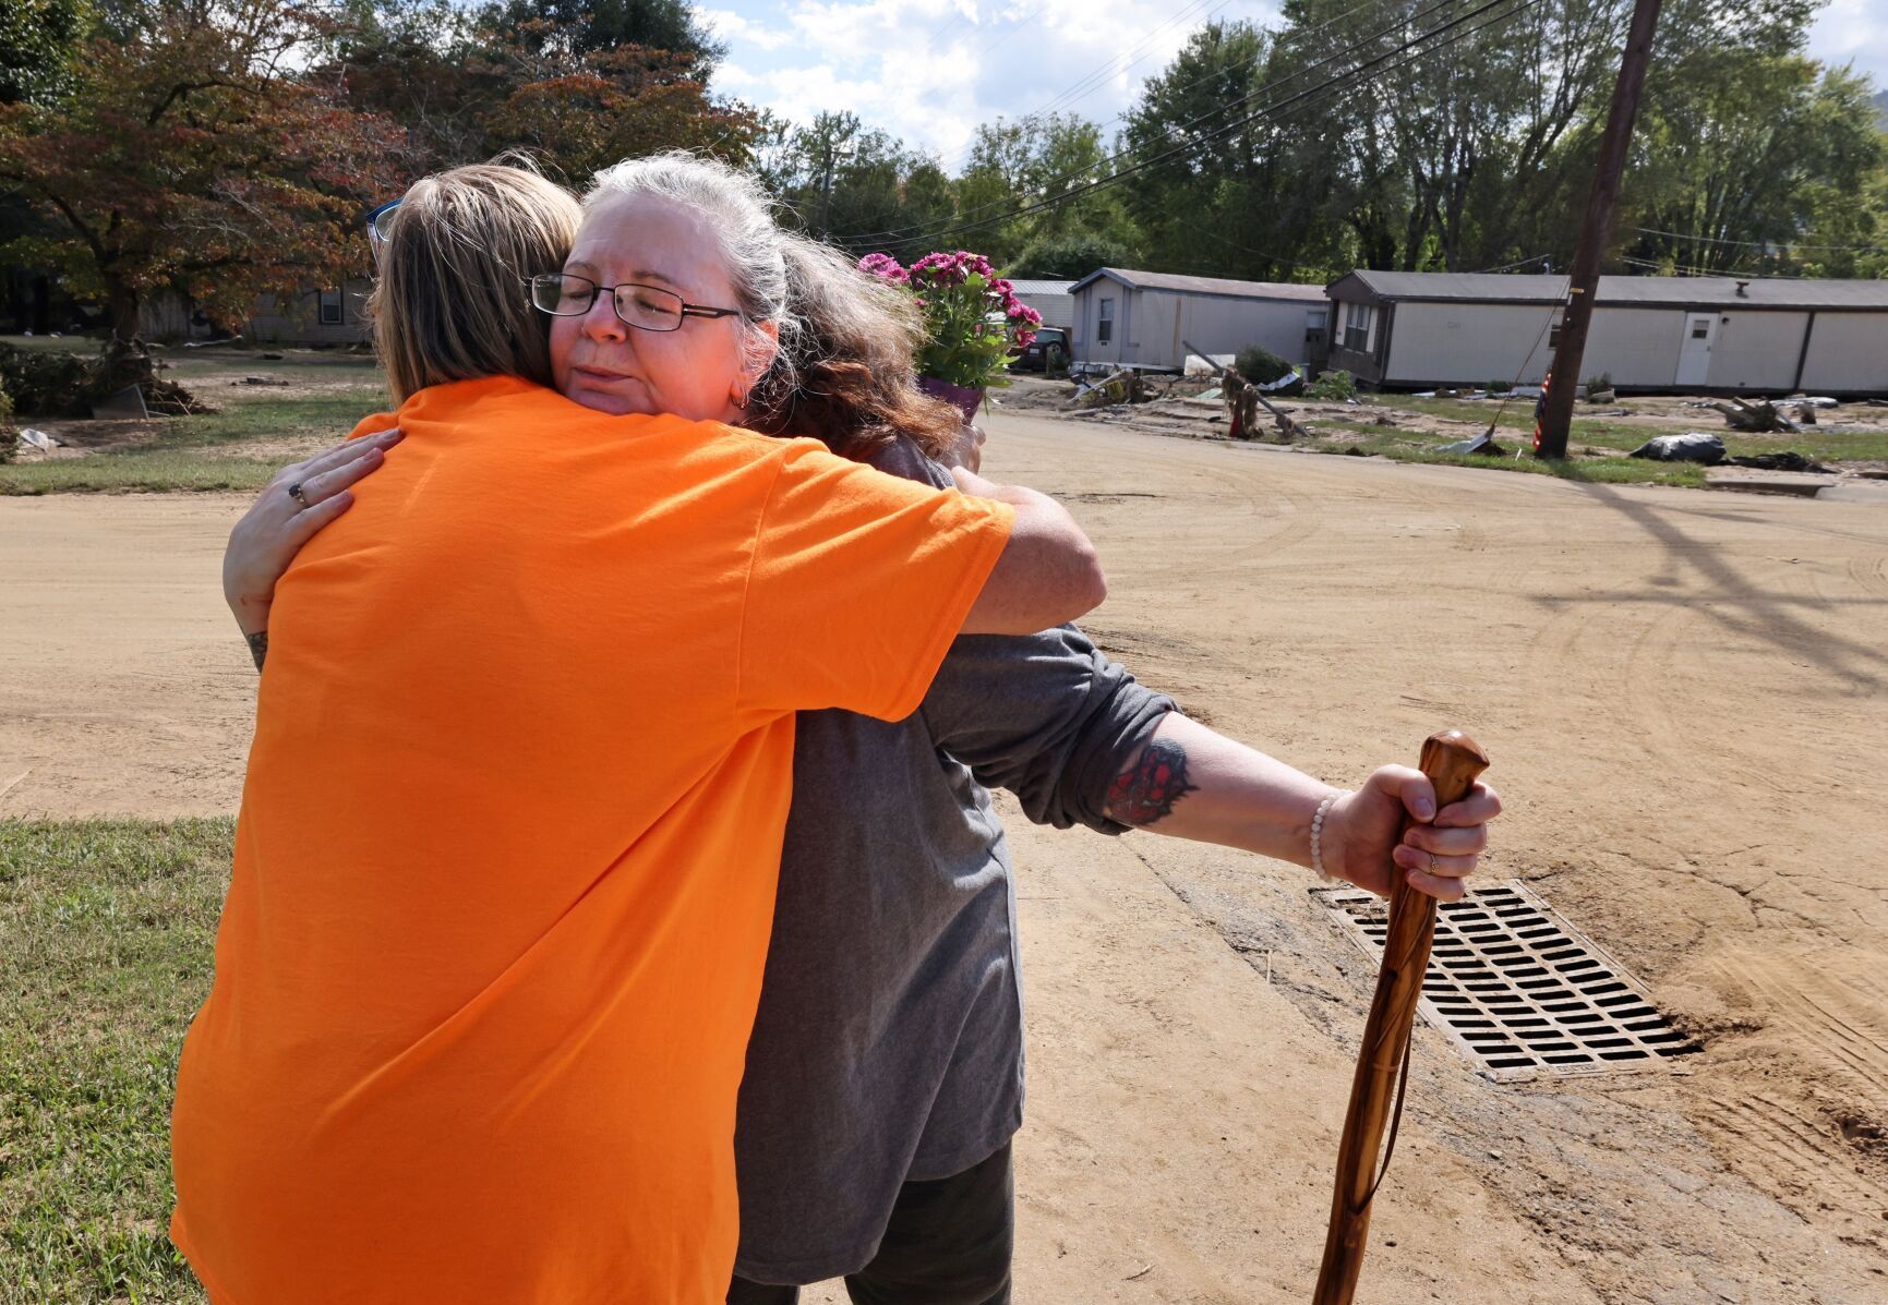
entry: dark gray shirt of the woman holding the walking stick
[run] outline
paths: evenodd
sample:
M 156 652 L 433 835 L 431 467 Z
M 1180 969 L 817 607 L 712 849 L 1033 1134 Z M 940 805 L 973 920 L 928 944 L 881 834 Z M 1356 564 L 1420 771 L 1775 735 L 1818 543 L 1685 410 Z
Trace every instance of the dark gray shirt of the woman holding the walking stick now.
M 872 464 L 952 483 L 908 443 Z M 801 713 L 734 1133 L 740 1277 L 863 1267 L 901 1184 L 961 1173 L 1021 1126 L 1016 886 L 986 786 L 1038 824 L 1120 834 L 1108 783 L 1169 711 L 1063 626 L 959 637 L 895 724 Z

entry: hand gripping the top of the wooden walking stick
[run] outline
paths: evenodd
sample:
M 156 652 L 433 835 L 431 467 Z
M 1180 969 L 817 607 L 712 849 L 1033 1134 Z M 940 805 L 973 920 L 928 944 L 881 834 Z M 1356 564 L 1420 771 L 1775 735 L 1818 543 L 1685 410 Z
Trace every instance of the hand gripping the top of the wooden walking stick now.
M 1391 875 L 1403 875 L 1410 888 L 1456 901 L 1488 849 L 1488 822 L 1497 815 L 1501 798 L 1488 785 L 1476 783 L 1467 798 L 1437 811 L 1427 775 L 1384 766 L 1331 805 L 1323 867 L 1380 896 L 1390 896 Z

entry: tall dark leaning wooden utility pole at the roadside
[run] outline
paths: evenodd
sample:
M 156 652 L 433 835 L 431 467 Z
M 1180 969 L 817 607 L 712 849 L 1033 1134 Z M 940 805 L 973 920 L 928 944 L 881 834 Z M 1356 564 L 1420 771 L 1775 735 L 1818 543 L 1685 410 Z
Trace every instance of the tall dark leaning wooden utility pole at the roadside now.
M 1612 209 L 1620 202 L 1620 173 L 1626 172 L 1626 149 L 1633 140 L 1633 119 L 1639 117 L 1639 91 L 1644 87 L 1646 60 L 1652 55 L 1658 8 L 1660 0 L 1637 0 L 1633 23 L 1626 34 L 1626 58 L 1620 60 L 1620 81 L 1612 89 L 1607 134 L 1599 138 L 1599 166 L 1593 170 L 1593 190 L 1586 198 L 1580 249 L 1573 255 L 1573 270 L 1567 279 L 1567 313 L 1559 319 L 1554 379 L 1546 390 L 1546 409 L 1541 415 L 1541 434 L 1535 441 L 1535 456 L 1541 458 L 1567 456 L 1573 394 L 1580 385 L 1586 328 L 1593 321 L 1593 292 L 1599 289 L 1599 260 L 1607 253 L 1607 241 L 1612 240 Z

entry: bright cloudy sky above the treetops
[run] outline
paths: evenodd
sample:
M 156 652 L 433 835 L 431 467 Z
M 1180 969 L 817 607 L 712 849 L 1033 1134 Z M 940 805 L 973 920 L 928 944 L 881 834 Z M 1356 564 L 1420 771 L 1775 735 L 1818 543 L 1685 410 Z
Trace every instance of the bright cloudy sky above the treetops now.
M 700 11 L 729 43 L 719 92 L 793 123 L 851 109 L 948 172 L 978 123 L 1038 109 L 1108 123 L 1206 19 L 1278 19 L 1265 0 L 706 0 Z M 1831 0 L 1811 53 L 1854 60 L 1888 89 L 1888 0 Z

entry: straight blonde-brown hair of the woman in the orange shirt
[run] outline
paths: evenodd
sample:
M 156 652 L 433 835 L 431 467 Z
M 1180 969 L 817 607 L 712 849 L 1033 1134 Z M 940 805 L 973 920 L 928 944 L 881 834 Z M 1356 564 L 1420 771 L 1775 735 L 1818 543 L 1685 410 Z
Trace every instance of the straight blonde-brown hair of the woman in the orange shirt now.
M 393 402 L 485 375 L 551 385 L 551 319 L 531 306 L 525 279 L 563 270 L 580 219 L 576 196 L 525 166 L 415 181 L 368 298 Z

